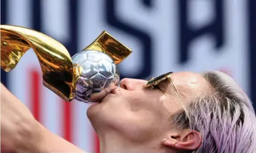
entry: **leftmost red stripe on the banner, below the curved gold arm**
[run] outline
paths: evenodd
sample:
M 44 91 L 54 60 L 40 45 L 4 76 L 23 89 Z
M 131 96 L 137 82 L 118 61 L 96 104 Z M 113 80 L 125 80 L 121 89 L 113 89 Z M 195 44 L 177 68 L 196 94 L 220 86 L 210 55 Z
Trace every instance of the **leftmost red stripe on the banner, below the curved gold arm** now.
M 29 92 L 31 98 L 31 112 L 34 115 L 34 118 L 40 122 L 40 74 L 33 69 L 31 71 L 31 77 L 31 91 Z

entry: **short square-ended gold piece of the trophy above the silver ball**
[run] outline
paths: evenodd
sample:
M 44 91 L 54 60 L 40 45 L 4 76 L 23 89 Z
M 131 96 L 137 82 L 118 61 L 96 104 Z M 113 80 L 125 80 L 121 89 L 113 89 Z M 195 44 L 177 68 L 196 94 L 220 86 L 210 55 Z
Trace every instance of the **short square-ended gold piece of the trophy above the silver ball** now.
M 121 44 L 106 31 L 102 32 L 96 40 L 83 49 L 83 51 L 86 50 L 104 52 L 105 54 L 108 54 L 116 64 L 122 62 L 122 60 L 126 59 L 126 57 L 132 53 L 129 48 L 124 46 L 124 44 Z

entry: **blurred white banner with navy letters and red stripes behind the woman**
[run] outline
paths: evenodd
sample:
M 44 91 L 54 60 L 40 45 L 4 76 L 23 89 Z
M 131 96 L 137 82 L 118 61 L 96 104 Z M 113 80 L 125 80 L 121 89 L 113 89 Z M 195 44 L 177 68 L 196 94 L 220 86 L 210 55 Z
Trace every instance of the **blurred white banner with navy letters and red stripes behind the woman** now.
M 133 51 L 119 65 L 122 78 L 220 70 L 255 102 L 255 7 L 254 0 L 1 0 L 1 24 L 43 32 L 71 56 L 107 30 Z M 1 82 L 52 132 L 99 152 L 89 104 L 68 104 L 43 87 L 33 51 L 10 73 L 1 70 Z

